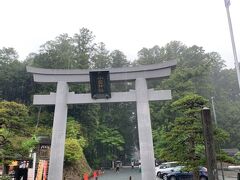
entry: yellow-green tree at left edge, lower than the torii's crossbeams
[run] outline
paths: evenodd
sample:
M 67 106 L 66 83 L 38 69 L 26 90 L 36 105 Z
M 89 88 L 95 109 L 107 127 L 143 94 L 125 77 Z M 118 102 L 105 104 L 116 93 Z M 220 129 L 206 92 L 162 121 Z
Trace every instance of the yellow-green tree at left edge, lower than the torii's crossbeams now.
M 7 159 L 24 158 L 38 143 L 32 138 L 28 109 L 15 102 L 0 102 L 0 155 L 1 163 Z

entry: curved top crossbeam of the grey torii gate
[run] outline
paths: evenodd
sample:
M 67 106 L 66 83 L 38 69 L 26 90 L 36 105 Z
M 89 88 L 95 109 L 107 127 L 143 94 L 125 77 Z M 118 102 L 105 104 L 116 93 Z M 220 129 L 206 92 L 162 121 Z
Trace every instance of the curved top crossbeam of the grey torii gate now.
M 161 64 L 151 64 L 136 67 L 123 67 L 104 69 L 109 70 L 111 81 L 135 80 L 137 78 L 152 79 L 166 77 L 171 74 L 171 67 L 176 66 L 177 61 L 171 60 Z M 79 70 L 79 69 L 42 69 L 27 67 L 27 72 L 33 74 L 35 82 L 89 82 L 89 71 L 101 71 L 103 69 Z

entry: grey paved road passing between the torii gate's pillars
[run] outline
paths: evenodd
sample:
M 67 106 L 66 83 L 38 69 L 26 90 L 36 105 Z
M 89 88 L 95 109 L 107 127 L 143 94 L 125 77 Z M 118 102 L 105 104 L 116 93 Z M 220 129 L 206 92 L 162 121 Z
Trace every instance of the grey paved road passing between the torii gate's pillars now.
M 138 168 L 131 169 L 130 167 L 120 168 L 119 173 L 116 173 L 114 170 L 106 170 L 98 180 L 141 180 L 141 172 Z M 156 179 L 160 180 L 160 179 Z

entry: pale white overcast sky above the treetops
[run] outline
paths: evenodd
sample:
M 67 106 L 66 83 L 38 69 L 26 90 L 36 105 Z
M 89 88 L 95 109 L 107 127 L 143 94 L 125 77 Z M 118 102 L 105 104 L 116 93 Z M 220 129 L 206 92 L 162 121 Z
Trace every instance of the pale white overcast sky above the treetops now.
M 240 54 L 240 1 L 230 13 Z M 0 48 L 13 47 L 23 60 L 62 33 L 82 27 L 119 49 L 129 60 L 137 52 L 177 40 L 220 53 L 234 67 L 224 0 L 0 0 Z

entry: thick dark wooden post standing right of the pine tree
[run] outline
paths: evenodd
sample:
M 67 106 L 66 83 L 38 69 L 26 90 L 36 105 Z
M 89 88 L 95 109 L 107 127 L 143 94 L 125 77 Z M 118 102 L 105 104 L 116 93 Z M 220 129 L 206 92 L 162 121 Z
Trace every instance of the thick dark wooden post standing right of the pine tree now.
M 208 179 L 218 180 L 216 151 L 213 139 L 213 126 L 210 109 L 202 109 L 203 134 L 205 142 L 205 152 L 207 156 Z

